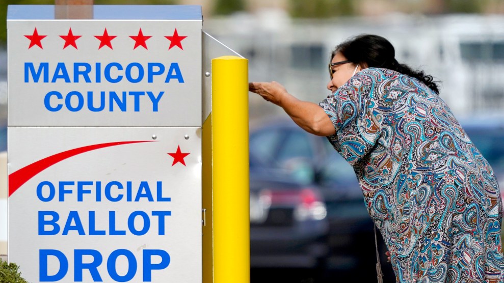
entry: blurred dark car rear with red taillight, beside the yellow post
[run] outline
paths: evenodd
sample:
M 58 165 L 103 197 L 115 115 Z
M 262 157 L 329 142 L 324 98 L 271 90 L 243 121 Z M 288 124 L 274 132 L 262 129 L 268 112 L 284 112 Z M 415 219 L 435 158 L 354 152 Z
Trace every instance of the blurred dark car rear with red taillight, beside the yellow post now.
M 327 210 L 319 190 L 250 156 L 250 264 L 313 268 L 327 254 Z

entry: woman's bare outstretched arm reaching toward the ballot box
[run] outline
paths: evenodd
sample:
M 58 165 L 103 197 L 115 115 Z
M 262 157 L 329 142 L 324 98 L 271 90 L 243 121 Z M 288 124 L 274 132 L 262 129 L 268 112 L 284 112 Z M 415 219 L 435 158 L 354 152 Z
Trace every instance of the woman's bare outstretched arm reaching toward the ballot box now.
M 290 95 L 278 82 L 250 82 L 249 91 L 282 107 L 287 115 L 305 131 L 321 136 L 336 131 L 326 111 L 318 104 L 302 101 Z

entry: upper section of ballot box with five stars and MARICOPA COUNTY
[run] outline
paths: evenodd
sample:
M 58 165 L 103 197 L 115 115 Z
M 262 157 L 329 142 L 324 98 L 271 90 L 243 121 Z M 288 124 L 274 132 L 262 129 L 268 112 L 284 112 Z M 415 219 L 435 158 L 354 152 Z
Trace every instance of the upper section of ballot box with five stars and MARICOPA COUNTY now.
M 10 126 L 201 126 L 201 14 L 129 6 L 121 19 L 116 7 L 93 20 L 9 7 Z

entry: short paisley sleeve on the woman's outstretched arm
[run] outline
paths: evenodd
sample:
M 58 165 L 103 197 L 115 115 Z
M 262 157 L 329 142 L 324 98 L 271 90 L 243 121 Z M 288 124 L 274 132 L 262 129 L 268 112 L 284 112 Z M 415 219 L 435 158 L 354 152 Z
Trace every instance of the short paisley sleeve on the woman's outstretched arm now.
M 374 69 L 354 75 L 334 94 L 319 103 L 336 129 L 327 138 L 352 166 L 376 144 L 383 118 L 375 111 L 376 77 Z

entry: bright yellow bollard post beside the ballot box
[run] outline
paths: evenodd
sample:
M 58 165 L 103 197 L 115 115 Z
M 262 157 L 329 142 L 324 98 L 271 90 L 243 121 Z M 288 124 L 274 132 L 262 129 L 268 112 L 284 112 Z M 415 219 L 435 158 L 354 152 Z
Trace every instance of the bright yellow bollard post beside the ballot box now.
M 250 282 L 248 60 L 211 62 L 214 282 Z

